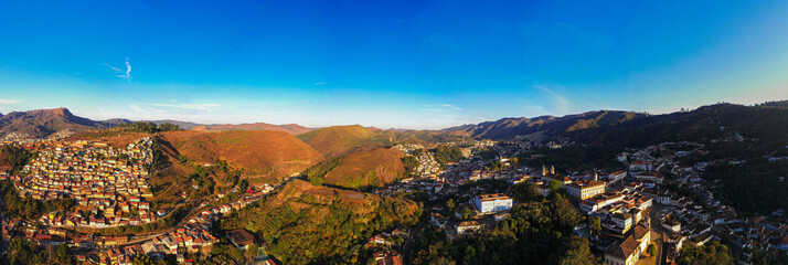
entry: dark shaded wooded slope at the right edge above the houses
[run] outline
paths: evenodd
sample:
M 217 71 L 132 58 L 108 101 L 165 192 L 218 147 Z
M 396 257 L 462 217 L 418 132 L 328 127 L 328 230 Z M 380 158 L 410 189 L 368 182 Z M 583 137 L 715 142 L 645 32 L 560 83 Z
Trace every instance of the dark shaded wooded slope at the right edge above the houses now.
M 721 165 L 706 168 L 707 180 L 721 180 L 714 191 L 725 204 L 749 213 L 769 214 L 788 209 L 788 161 L 748 160 L 741 166 Z

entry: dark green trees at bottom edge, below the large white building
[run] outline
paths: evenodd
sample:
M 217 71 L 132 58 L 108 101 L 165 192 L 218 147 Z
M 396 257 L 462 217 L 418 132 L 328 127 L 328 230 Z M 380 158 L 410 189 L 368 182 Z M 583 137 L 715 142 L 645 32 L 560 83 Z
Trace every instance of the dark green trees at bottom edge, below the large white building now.
M 508 220 L 473 237 L 449 241 L 427 229 L 411 243 L 413 264 L 595 264 L 588 242 L 569 237 L 582 215 L 556 195 L 553 202 L 517 204 Z

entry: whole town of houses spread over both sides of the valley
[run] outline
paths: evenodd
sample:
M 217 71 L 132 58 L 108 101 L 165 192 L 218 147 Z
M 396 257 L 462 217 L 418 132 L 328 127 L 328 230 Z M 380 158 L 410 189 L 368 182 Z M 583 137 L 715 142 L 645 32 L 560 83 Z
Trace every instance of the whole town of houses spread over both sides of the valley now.
M 744 138 L 722 139 L 746 141 Z M 565 142 L 566 144 L 566 142 Z M 76 261 L 86 264 L 134 264 L 139 256 L 179 264 L 198 264 L 195 258 L 212 253 L 220 242 L 241 252 L 259 248 L 256 264 L 276 264 L 264 244 L 245 229 L 216 233 L 215 225 L 234 212 L 255 203 L 277 187 L 260 184 L 233 189 L 198 201 L 184 202 L 185 210 L 157 209 L 148 179 L 155 162 L 155 140 L 145 137 L 124 147 L 103 141 L 53 139 L 6 141 L 4 145 L 35 150 L 36 156 L 18 174 L 2 172 L 20 197 L 41 201 L 73 200 L 77 210 L 52 211 L 36 219 L 2 219 L 6 241 L 23 237 L 41 245 L 66 245 Z M 520 203 L 517 187 L 533 187 L 536 195 L 566 197 L 586 223 L 573 227 L 600 253 L 605 264 L 673 264 L 686 246 L 727 242 L 737 264 L 752 264 L 755 250 L 788 251 L 788 225 L 770 216 L 741 216 L 715 199 L 704 179 L 707 167 L 741 165 L 737 158 L 699 160 L 707 157 L 698 142 L 662 142 L 628 148 L 615 157 L 613 168 L 560 171 L 554 165 L 521 163 L 532 150 L 560 150 L 563 144 L 541 145 L 470 141 L 444 144 L 457 147 L 458 160 L 438 162 L 437 149 L 398 144 L 397 149 L 418 161 L 413 174 L 373 193 L 403 197 L 419 193 L 430 203 L 423 225 L 384 230 L 366 240 L 376 264 L 407 264 L 408 244 L 415 231 L 443 233 L 448 240 L 476 237 L 501 226 Z M 568 145 L 568 144 L 567 144 Z M 571 145 L 569 145 L 571 146 Z M 494 156 L 490 157 L 490 153 Z M 504 156 L 505 155 L 505 156 Z M 531 155 L 531 157 L 534 157 Z M 535 156 L 539 157 L 539 156 Z M 766 157 L 770 162 L 774 157 Z M 692 161 L 688 163 L 686 161 Z M 224 198 L 232 198 L 225 200 Z M 191 204 L 189 204 L 191 203 Z M 536 203 L 539 204 L 539 203 Z M 781 216 L 776 211 L 773 216 Z M 102 235 L 96 231 L 140 226 L 181 216 L 156 231 Z

